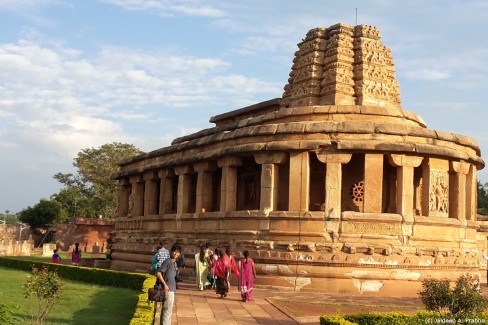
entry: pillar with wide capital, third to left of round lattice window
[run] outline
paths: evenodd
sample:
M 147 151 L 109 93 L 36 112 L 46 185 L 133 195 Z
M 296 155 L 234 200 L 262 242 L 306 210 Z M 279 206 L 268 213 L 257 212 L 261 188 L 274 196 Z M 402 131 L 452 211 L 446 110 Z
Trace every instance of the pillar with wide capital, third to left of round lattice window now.
M 261 197 L 259 209 L 261 215 L 278 209 L 279 167 L 288 159 L 284 152 L 260 153 L 254 155 L 257 164 L 261 165 Z

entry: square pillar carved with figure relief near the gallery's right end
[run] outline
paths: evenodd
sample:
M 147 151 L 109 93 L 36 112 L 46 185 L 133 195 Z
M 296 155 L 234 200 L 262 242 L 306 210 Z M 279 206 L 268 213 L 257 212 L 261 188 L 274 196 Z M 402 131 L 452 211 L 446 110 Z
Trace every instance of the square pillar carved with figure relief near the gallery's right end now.
M 424 158 L 422 163 L 422 215 L 448 217 L 449 161 Z

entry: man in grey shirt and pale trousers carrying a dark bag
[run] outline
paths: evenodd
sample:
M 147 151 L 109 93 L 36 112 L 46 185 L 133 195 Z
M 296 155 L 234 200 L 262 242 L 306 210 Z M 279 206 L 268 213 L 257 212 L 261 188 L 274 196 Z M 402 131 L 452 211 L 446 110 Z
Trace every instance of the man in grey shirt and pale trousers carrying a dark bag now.
M 163 324 L 171 324 L 171 315 L 173 314 L 173 305 L 175 302 L 176 280 L 178 274 L 178 267 L 176 266 L 176 259 L 181 254 L 181 247 L 173 245 L 171 247 L 170 258 L 164 260 L 161 267 L 156 272 L 156 285 L 162 287 L 165 292 L 165 300 L 163 304 Z

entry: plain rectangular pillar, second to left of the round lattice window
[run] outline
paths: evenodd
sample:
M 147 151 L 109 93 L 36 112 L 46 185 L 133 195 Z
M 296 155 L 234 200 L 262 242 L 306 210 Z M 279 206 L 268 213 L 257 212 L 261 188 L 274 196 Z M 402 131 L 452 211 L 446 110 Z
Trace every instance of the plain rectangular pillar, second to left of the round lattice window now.
M 290 211 L 307 211 L 310 204 L 310 163 L 308 151 L 290 152 Z

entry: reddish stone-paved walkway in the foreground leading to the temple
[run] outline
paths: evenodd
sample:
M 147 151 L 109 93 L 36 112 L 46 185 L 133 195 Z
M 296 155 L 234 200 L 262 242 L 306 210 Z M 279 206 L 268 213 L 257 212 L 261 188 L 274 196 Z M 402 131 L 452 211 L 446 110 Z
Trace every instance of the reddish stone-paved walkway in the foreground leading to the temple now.
M 193 324 L 266 324 L 266 325 L 319 325 L 320 315 L 294 317 L 272 304 L 273 300 L 286 299 L 299 304 L 301 301 L 327 302 L 344 305 L 422 306 L 415 297 L 393 298 L 371 295 L 338 295 L 326 293 L 278 291 L 255 288 L 253 301 L 242 302 L 237 287 L 232 287 L 226 298 L 213 290 L 198 291 L 193 282 L 184 281 L 176 291 L 172 325 Z M 342 310 L 342 312 L 347 312 Z

